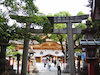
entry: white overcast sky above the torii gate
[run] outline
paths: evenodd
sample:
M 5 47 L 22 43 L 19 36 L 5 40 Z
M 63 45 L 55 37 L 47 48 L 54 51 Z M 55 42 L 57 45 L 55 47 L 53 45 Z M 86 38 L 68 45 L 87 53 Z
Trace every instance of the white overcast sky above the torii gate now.
M 86 7 L 88 0 L 35 0 L 35 5 L 39 12 L 45 15 L 68 11 L 72 16 L 77 15 L 79 11 L 89 14 L 90 8 Z

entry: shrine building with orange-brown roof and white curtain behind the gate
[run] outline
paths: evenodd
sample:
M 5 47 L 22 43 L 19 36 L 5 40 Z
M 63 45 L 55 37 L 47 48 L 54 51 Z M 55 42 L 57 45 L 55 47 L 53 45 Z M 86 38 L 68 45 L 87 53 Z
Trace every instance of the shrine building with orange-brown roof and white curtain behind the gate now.
M 63 48 L 65 49 L 64 45 Z M 23 53 L 23 44 L 17 44 L 16 50 Z M 43 59 L 60 59 L 64 62 L 64 54 L 61 45 L 54 41 L 46 41 L 41 44 L 29 44 L 29 53 L 34 53 L 36 62 L 43 62 Z

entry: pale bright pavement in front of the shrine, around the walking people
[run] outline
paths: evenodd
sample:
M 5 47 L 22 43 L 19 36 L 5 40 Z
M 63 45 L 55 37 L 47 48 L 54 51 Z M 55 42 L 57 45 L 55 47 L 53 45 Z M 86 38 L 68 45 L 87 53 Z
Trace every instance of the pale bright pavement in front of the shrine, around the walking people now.
M 33 67 L 36 67 L 36 69 L 39 71 L 38 73 L 29 73 L 27 75 L 57 75 L 57 67 L 54 66 L 54 64 L 51 65 L 51 71 L 49 71 L 48 66 L 44 68 L 43 63 L 36 63 L 35 66 L 30 66 L 30 70 L 33 70 Z M 65 64 L 62 65 L 61 70 L 64 70 Z M 14 69 L 17 69 L 17 65 L 15 64 Z M 20 69 L 21 72 L 21 64 Z M 69 73 L 61 73 L 61 75 L 70 75 Z M 77 74 L 76 74 L 77 75 Z

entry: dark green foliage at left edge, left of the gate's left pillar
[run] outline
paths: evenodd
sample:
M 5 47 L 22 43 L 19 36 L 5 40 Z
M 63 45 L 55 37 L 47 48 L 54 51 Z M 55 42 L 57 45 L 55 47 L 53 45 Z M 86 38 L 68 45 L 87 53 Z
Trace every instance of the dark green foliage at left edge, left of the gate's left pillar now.
M 0 40 L 8 41 L 9 39 L 14 39 L 16 37 L 16 25 L 8 26 L 8 19 L 5 18 L 5 14 L 0 11 Z

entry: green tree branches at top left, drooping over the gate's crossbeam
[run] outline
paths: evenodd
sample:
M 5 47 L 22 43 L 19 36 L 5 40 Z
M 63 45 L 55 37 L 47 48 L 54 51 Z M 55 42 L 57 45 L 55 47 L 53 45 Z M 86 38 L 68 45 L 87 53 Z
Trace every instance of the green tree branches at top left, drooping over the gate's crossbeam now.
M 17 22 L 30 22 L 36 25 L 45 25 L 48 22 L 47 17 L 38 12 L 34 0 L 1 0 L 0 4 L 7 9 L 7 15 Z M 19 16 L 19 13 L 22 16 Z

